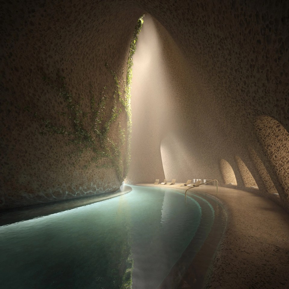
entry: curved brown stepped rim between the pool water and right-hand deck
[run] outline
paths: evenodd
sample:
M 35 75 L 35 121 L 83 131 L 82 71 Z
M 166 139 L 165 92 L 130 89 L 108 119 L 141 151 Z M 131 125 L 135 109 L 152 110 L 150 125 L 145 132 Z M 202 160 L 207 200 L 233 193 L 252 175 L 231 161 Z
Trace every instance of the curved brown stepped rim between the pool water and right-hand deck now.
M 140 187 L 152 187 L 151 184 L 137 184 L 136 186 Z M 184 194 L 184 201 L 185 201 L 185 189 L 186 187 L 160 187 L 158 188 L 163 189 L 170 189 L 178 191 L 179 193 Z M 218 207 L 217 214 L 215 214 L 214 224 L 212 229 L 207 236 L 206 240 L 200 247 L 200 250 L 197 254 L 189 261 L 191 251 L 193 250 L 195 244 L 194 239 L 192 239 L 191 243 L 183 252 L 182 256 L 176 262 L 176 264 L 172 267 L 167 277 L 163 280 L 160 286 L 157 289 L 165 289 L 165 288 L 174 288 L 174 289 L 181 289 L 181 288 L 204 288 L 207 283 L 210 282 L 210 278 L 212 275 L 213 270 L 213 261 L 219 250 L 220 244 L 224 239 L 225 232 L 228 227 L 228 218 L 230 216 L 230 210 L 228 206 L 220 200 L 218 197 L 213 196 L 211 194 L 206 194 L 202 191 L 188 191 L 188 197 L 192 196 L 200 196 L 205 200 L 209 201 L 214 208 Z M 201 230 L 201 227 L 200 227 Z M 204 263 L 204 259 L 209 259 L 210 261 Z M 185 272 L 184 272 L 185 269 Z M 180 274 L 180 272 L 184 272 Z M 206 274 L 204 274 L 206 272 Z

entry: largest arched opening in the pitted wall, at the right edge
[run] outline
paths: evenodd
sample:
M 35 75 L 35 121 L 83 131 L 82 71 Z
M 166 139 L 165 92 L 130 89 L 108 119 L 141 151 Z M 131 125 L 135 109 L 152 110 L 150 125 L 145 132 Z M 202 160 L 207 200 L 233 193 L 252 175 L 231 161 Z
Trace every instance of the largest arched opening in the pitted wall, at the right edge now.
M 283 194 L 288 198 L 289 133 L 281 123 L 269 116 L 257 117 L 255 129 L 272 169 L 283 187 Z

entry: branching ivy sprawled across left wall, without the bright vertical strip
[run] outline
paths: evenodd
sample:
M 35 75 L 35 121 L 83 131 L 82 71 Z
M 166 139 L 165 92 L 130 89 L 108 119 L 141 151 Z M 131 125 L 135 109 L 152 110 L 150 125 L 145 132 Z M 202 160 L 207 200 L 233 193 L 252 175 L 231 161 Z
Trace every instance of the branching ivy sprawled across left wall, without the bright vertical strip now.
M 90 160 L 83 166 L 87 169 L 90 164 L 95 163 L 96 167 L 100 160 L 106 158 L 110 163 L 106 167 L 113 167 L 113 156 L 110 154 L 110 147 L 108 146 L 107 134 L 110 129 L 110 124 L 116 120 L 114 113 L 111 113 L 109 120 L 104 122 L 107 118 L 105 106 L 107 104 L 107 95 L 105 94 L 106 87 L 102 92 L 102 96 L 97 103 L 95 96 L 92 94 L 92 87 L 90 89 L 90 111 L 85 112 L 82 109 L 82 102 L 76 101 L 73 95 L 67 90 L 64 77 L 58 77 L 58 85 L 54 85 L 53 81 L 47 77 L 44 80 L 55 90 L 58 91 L 58 96 L 64 99 L 67 113 L 61 112 L 62 117 L 69 120 L 70 126 L 57 126 L 51 120 L 46 119 L 43 115 L 35 112 L 34 117 L 39 119 L 44 124 L 44 130 L 40 132 L 41 135 L 59 134 L 66 135 L 68 138 L 67 145 L 73 145 L 77 157 L 81 157 L 84 151 L 90 151 Z M 84 98 L 82 98 L 83 100 Z M 109 123 L 109 125 L 107 125 Z

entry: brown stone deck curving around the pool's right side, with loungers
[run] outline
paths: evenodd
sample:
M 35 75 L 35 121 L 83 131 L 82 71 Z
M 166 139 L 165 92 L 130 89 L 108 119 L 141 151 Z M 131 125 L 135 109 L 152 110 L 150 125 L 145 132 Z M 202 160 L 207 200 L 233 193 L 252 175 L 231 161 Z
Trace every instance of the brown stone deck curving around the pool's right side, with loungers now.
M 184 192 L 188 188 L 180 183 L 138 185 Z M 194 190 L 216 196 L 211 185 Z M 219 187 L 218 199 L 228 210 L 228 225 L 205 288 L 289 288 L 289 214 L 252 192 Z

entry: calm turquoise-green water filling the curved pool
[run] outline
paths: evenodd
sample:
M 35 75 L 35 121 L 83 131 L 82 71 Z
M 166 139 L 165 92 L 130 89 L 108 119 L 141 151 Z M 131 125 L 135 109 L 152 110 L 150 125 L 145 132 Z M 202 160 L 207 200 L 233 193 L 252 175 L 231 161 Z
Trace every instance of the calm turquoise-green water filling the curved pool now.
M 194 239 L 202 213 L 197 253 L 213 207 L 200 196 L 185 204 L 183 194 L 163 188 L 133 186 L 113 199 L 1 226 L 1 288 L 157 288 Z

